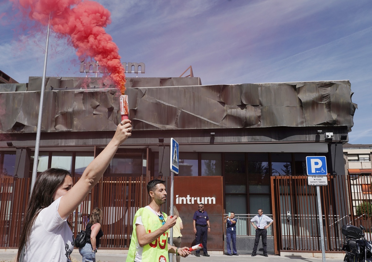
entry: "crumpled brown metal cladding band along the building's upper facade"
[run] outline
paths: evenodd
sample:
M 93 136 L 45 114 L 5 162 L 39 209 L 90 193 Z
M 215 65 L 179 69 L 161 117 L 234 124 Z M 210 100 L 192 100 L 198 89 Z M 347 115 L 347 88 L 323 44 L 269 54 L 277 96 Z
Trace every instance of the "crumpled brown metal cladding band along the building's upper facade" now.
M 70 82 L 65 79 L 64 85 L 74 85 Z M 350 129 L 356 109 L 349 81 L 133 87 L 126 94 L 134 130 Z M 120 121 L 118 96 L 117 89 L 46 90 L 42 132 L 115 130 Z M 6 108 L 0 112 L 0 132 L 36 132 L 39 100 L 39 91 L 0 92 Z

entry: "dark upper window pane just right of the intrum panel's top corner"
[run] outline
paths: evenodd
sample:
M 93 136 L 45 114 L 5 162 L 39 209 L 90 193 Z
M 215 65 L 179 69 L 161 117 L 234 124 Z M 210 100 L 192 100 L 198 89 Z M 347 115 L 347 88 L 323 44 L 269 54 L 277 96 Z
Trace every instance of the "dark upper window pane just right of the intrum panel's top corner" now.
M 225 154 L 225 192 L 246 193 L 247 177 L 244 153 Z

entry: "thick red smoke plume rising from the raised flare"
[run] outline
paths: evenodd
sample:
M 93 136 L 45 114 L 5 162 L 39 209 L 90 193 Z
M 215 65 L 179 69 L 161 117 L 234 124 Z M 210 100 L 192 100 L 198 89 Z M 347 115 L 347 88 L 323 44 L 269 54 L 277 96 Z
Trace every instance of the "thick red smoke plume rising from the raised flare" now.
M 104 27 L 111 23 L 110 12 L 101 4 L 89 0 L 12 0 L 30 19 L 69 37 L 79 59 L 93 57 L 110 73 L 121 93 L 125 92 L 125 74 L 118 46 Z

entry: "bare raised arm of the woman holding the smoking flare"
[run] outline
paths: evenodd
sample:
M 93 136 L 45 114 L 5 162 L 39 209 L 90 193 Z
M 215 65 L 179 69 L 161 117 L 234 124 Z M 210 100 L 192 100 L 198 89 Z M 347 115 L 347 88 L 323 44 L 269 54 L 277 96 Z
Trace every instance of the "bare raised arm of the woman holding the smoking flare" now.
M 114 157 L 119 146 L 132 135 L 131 121 L 123 120 L 116 128 L 115 135 L 105 149 L 96 157 L 87 168 L 77 183 L 61 198 L 58 213 L 61 218 L 67 218 L 80 205 L 81 201 L 88 195 L 90 190 L 101 179 L 110 161 Z

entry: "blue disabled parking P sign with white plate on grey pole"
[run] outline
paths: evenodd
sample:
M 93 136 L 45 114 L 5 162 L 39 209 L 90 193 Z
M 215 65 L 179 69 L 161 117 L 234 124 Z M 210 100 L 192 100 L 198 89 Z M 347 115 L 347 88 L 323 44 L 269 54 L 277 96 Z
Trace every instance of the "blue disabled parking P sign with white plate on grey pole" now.
M 320 187 L 327 186 L 327 161 L 324 156 L 318 157 L 306 157 L 306 170 L 308 174 L 309 186 L 317 186 L 317 197 L 318 197 L 318 213 L 319 213 L 319 227 L 320 227 L 320 239 L 322 245 L 322 259 L 325 262 L 325 245 L 324 245 L 324 232 L 323 232 L 323 215 L 322 206 L 320 200 Z

